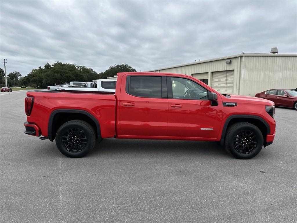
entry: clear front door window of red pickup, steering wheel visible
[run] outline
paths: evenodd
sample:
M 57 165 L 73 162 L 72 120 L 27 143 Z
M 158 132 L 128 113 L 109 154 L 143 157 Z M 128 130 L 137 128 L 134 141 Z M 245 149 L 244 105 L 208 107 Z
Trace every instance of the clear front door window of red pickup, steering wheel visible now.
M 172 95 L 178 99 L 207 100 L 207 90 L 187 78 L 171 77 Z

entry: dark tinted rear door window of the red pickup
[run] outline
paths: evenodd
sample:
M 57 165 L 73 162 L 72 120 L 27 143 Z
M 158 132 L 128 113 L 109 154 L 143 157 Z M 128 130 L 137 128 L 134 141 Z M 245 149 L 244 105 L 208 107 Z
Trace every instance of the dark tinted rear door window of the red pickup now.
M 129 94 L 145 98 L 161 98 L 161 76 L 130 76 Z

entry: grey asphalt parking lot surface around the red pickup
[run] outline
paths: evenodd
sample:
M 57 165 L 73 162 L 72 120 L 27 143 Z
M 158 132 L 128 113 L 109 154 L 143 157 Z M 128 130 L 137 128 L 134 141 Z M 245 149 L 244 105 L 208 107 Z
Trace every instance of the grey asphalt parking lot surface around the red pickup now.
M 84 158 L 24 134 L 26 91 L 0 95 L 1 222 L 296 222 L 297 111 L 238 160 L 215 142 L 104 139 Z

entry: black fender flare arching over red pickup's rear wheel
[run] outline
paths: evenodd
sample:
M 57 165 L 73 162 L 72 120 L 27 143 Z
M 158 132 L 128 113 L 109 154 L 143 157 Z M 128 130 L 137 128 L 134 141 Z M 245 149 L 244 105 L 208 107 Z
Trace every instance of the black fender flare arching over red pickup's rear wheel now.
M 100 124 L 98 120 L 89 112 L 86 112 L 84 110 L 80 109 L 56 109 L 50 114 L 50 118 L 48 120 L 48 138 L 51 142 L 55 139 L 55 136 L 53 136 L 53 119 L 56 114 L 58 113 L 78 113 L 78 114 L 84 114 L 88 116 L 92 121 L 94 121 L 96 128 L 97 128 L 97 140 L 101 140 L 101 130 L 100 130 Z

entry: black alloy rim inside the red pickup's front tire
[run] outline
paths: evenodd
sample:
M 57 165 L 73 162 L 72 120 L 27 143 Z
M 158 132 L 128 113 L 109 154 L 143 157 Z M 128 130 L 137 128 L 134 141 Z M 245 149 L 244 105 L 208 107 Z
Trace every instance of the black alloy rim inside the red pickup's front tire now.
M 233 139 L 234 149 L 241 154 L 252 153 L 258 145 L 257 136 L 250 130 L 242 130 Z

